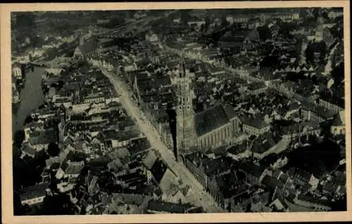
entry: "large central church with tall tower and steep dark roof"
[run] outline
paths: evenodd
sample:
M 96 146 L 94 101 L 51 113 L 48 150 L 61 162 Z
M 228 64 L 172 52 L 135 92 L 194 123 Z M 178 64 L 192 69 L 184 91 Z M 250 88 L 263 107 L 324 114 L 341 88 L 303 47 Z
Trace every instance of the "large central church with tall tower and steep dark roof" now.
M 217 104 L 195 113 L 192 104 L 194 96 L 189 70 L 184 63 L 179 66 L 177 77 L 177 154 L 191 151 L 208 151 L 230 144 L 240 132 L 240 120 L 231 106 Z

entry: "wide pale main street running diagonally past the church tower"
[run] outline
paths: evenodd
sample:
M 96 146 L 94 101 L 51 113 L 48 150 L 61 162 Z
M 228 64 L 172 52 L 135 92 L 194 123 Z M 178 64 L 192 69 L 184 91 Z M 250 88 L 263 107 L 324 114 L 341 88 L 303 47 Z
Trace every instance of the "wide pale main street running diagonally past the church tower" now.
M 101 71 L 114 85 L 116 92 L 120 94 L 120 103 L 125 107 L 127 113 L 134 118 L 139 130 L 144 133 L 146 138 L 151 143 L 151 147 L 160 153 L 161 158 L 166 163 L 168 168 L 170 168 L 170 170 L 172 170 L 172 172 L 174 172 L 175 175 L 177 175 L 177 177 L 184 182 L 184 184 L 191 187 L 189 194 L 187 194 L 187 200 L 196 206 L 202 206 L 208 213 L 222 212 L 222 209 L 216 206 L 216 202 L 213 197 L 210 197 L 210 194 L 203 189 L 203 186 L 194 178 L 193 175 L 191 175 L 189 170 L 180 165 L 180 163 L 177 163 L 172 151 L 168 149 L 168 147 L 166 147 L 161 141 L 155 128 L 146 122 L 146 117 L 137 104 L 134 103 L 132 94 L 128 91 L 125 82 L 120 80 L 117 75 L 108 72 L 105 68 L 101 68 Z

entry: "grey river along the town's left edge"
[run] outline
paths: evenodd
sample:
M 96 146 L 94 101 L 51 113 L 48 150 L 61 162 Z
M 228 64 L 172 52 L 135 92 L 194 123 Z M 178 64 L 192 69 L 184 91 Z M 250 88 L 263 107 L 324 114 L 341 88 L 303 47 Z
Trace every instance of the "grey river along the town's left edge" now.
M 25 118 L 29 113 L 44 104 L 42 92 L 42 74 L 45 68 L 34 66 L 34 70 L 28 69 L 25 74 L 25 87 L 20 91 L 20 105 L 12 116 L 12 130 L 23 128 Z

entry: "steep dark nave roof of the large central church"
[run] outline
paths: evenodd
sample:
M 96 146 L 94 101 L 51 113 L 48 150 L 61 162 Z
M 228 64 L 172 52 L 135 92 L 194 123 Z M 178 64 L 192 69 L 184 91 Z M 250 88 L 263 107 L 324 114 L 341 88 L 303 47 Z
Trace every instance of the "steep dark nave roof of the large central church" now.
M 220 104 L 201 111 L 194 117 L 196 134 L 198 136 L 206 135 L 208 132 L 225 125 L 235 116 L 232 108 Z

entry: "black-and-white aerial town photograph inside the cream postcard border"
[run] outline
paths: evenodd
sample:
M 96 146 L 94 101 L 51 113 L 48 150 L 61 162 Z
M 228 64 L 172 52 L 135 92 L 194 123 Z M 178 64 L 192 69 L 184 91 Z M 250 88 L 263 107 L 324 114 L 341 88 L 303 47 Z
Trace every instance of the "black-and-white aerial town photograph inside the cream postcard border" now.
M 12 11 L 13 215 L 346 211 L 343 12 Z

